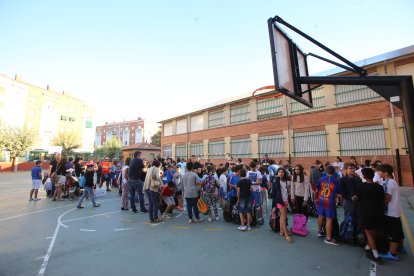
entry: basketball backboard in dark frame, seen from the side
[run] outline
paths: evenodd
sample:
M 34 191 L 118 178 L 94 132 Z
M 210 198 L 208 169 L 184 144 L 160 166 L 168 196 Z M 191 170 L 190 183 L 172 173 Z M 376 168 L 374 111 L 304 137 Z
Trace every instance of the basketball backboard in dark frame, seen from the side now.
M 267 22 L 276 91 L 312 107 L 311 86 L 298 82 L 299 77 L 309 76 L 306 55 L 274 22 L 273 18 Z

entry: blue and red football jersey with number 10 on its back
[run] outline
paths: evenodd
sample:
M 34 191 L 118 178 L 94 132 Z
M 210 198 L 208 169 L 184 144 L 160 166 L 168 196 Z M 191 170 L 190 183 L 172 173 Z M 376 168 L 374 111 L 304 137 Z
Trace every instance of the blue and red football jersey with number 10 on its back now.
M 316 184 L 318 190 L 318 206 L 326 209 L 336 206 L 335 197 L 342 194 L 341 184 L 335 176 L 323 176 Z

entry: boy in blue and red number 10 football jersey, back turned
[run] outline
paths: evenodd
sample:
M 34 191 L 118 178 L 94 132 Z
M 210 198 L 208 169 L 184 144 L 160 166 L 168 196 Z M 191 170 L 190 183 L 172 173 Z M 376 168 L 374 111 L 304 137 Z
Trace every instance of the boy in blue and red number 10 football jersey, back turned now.
M 326 218 L 326 239 L 325 243 L 338 245 L 332 238 L 332 220 L 336 219 L 336 197 L 342 194 L 340 182 L 335 177 L 335 168 L 326 167 L 327 176 L 319 178 L 316 184 L 318 191 L 318 237 L 323 236 L 322 223 Z

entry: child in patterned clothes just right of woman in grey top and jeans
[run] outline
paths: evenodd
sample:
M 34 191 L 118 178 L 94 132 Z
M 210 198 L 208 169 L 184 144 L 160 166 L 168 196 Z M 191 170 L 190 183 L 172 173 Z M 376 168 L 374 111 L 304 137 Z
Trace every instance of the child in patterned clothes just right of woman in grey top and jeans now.
M 215 169 L 213 166 L 207 166 L 207 174 L 203 176 L 201 184 L 204 186 L 204 198 L 207 201 L 208 206 L 208 221 L 213 220 L 213 211 L 216 220 L 219 220 L 218 210 L 217 210 L 217 197 L 216 189 L 220 187 L 220 181 L 216 175 Z

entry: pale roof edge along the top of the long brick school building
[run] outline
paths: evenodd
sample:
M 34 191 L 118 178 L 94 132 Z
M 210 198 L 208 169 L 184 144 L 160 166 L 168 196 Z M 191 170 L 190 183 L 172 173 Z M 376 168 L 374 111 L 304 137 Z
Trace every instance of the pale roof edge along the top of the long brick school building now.
M 410 55 L 410 54 L 413 54 L 413 53 L 414 53 L 414 45 L 411 45 L 411 46 L 401 48 L 401 49 L 398 49 L 398 50 L 394 50 L 394 51 L 391 51 L 391 52 L 388 52 L 388 53 L 384 53 L 384 54 L 381 54 L 381 55 L 378 55 L 378 56 L 363 59 L 363 60 L 360 60 L 360 61 L 357 61 L 357 62 L 354 62 L 354 63 L 356 65 L 360 66 L 360 67 L 368 67 L 368 66 L 372 66 L 376 63 L 389 61 L 391 59 L 395 59 L 395 58 L 398 58 L 398 57 L 404 57 L 404 56 L 407 56 L 407 55 Z M 337 74 L 343 73 L 345 71 L 346 70 L 344 70 L 343 68 L 336 67 L 336 68 L 333 68 L 333 69 L 330 69 L 330 70 L 327 70 L 327 71 L 323 71 L 321 73 L 317 73 L 317 74 L 315 74 L 315 76 L 332 76 L 332 75 L 337 75 Z M 257 93 L 257 95 L 265 94 L 265 93 L 269 93 L 269 91 L 259 92 L 259 93 Z M 239 101 L 243 101 L 243 100 L 252 98 L 253 97 L 252 94 L 253 94 L 253 92 L 249 92 L 249 93 L 244 93 L 244 94 L 241 94 L 241 95 L 237 95 L 237 96 L 234 96 L 234 97 L 231 97 L 231 98 L 228 98 L 228 99 L 224 99 L 224 100 L 221 100 L 221 101 L 212 102 L 212 103 L 207 104 L 204 107 L 198 108 L 197 110 L 193 110 L 192 112 L 180 114 L 180 115 L 175 116 L 175 117 L 166 118 L 162 121 L 159 121 L 158 123 L 162 124 L 162 123 L 171 121 L 175 118 L 179 118 L 179 117 L 183 117 L 183 116 L 187 116 L 187 115 L 192 115 L 192 114 L 200 113 L 200 112 L 212 109 L 212 108 L 216 108 L 218 106 L 224 106 L 226 104 L 232 104 L 232 103 L 236 103 L 236 102 L 239 102 Z

